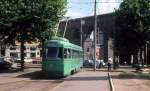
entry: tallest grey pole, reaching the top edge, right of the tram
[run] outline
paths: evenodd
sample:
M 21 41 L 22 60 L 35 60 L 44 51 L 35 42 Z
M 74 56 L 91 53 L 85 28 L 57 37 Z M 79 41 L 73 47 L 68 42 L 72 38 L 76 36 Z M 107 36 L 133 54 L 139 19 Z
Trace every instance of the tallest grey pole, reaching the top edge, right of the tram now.
M 97 1 L 94 3 L 94 71 L 96 71 L 96 31 L 97 31 L 97 15 L 96 15 Z

